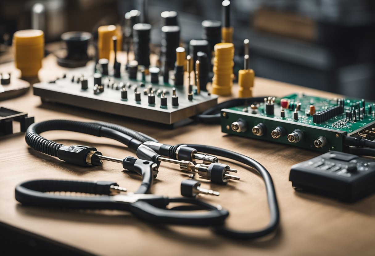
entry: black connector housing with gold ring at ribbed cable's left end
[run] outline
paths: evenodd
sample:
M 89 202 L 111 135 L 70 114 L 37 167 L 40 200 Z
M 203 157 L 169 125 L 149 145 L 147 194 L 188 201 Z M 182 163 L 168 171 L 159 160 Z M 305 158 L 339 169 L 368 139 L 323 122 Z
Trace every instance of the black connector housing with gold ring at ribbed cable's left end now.
M 65 162 L 81 166 L 101 165 L 102 161 L 93 158 L 93 155 L 102 155 L 95 147 L 62 146 L 57 151 L 57 157 Z

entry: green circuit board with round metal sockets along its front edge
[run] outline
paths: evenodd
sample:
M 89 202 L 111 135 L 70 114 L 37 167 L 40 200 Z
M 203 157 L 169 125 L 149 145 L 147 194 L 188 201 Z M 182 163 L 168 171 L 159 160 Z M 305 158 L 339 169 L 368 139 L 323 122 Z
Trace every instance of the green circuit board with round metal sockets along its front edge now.
M 222 109 L 222 132 L 321 152 L 342 151 L 345 147 L 342 144 L 343 135 L 372 140 L 375 138 L 375 130 L 373 132 L 371 129 L 375 123 L 374 102 L 350 98 L 321 98 L 305 94 L 265 100 L 258 104 Z M 262 135 L 253 132 L 253 128 L 258 124 L 261 124 L 259 127 L 264 130 Z M 236 129 L 239 126 L 240 129 Z M 284 131 L 278 138 L 272 136 L 276 128 Z M 291 142 L 288 136 L 296 129 L 302 132 L 300 137 L 303 138 Z M 323 137 L 321 140 L 324 145 L 318 143 L 321 147 L 317 147 L 315 143 L 320 137 Z

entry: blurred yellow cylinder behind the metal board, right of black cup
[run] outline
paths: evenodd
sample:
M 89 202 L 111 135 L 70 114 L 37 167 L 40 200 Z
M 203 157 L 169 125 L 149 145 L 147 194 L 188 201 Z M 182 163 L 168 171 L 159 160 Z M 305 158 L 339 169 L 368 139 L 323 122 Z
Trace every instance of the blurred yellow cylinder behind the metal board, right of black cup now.
M 100 26 L 98 28 L 98 58 L 99 59 L 110 59 L 111 50 L 113 51 L 112 37 L 118 37 L 118 28 L 115 25 Z M 122 36 L 121 40 L 117 40 L 117 51 L 121 51 Z

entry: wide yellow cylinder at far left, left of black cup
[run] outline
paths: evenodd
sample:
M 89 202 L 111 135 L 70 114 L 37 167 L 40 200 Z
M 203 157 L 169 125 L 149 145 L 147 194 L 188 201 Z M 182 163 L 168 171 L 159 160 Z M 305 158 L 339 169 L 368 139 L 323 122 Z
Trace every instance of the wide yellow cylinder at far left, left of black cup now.
M 44 33 L 42 30 L 19 30 L 13 35 L 16 68 L 21 77 L 34 77 L 42 67 Z

